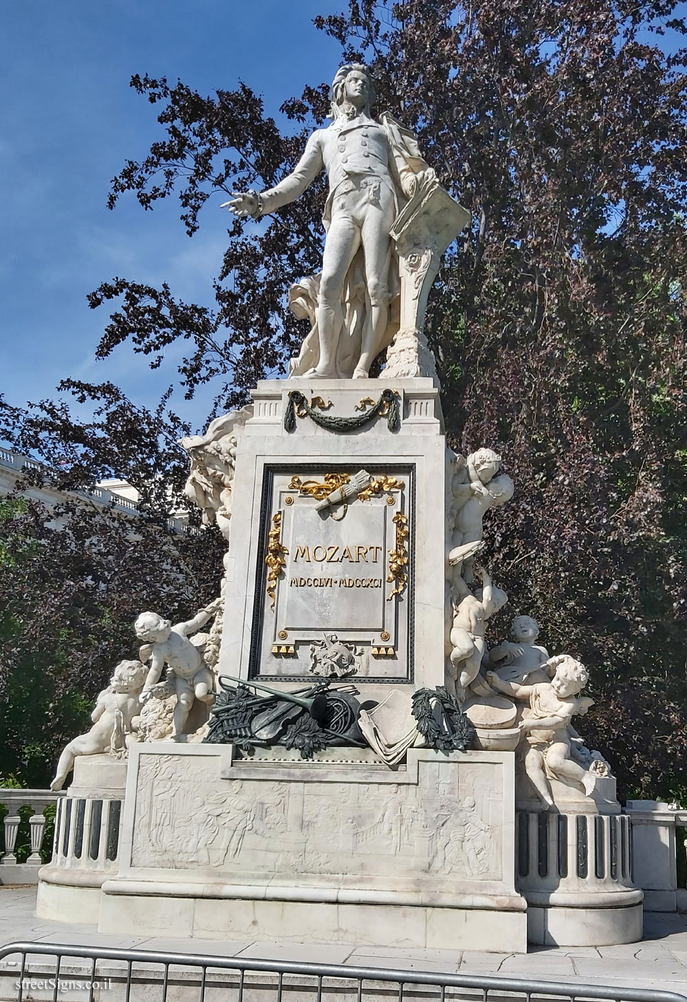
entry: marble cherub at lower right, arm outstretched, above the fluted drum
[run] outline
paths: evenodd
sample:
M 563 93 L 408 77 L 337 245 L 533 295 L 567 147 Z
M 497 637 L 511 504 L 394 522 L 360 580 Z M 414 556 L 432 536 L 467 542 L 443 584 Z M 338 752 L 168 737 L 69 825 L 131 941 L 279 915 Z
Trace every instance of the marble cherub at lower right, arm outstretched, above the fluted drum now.
M 528 745 L 525 772 L 539 800 L 550 808 L 554 801 L 547 778 L 580 784 L 589 797 L 597 775 L 574 762 L 572 750 L 573 734 L 577 734 L 572 727 L 573 716 L 587 713 L 594 705 L 588 696 L 578 696 L 587 684 L 587 669 L 570 654 L 550 658 L 547 667 L 554 671 L 553 678 L 535 685 L 505 682 L 495 671 L 487 672 L 487 680 L 505 695 L 530 703 L 519 724 Z

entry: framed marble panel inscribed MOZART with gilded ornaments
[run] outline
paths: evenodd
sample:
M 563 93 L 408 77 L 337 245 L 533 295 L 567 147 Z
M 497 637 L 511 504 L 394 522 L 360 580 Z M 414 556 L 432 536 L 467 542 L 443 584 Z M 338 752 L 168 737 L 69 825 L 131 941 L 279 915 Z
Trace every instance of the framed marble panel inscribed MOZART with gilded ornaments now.
M 268 472 L 253 677 L 307 677 L 310 645 L 335 636 L 357 648 L 361 680 L 409 680 L 412 472 L 370 465 L 342 498 L 360 472 Z

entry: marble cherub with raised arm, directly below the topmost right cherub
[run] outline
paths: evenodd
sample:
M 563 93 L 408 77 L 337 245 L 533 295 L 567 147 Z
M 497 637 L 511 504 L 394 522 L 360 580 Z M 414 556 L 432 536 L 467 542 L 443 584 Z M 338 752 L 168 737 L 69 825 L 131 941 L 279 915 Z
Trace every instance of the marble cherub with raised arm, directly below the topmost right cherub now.
M 447 688 L 458 699 L 465 698 L 465 690 L 480 672 L 487 649 L 486 621 L 508 601 L 508 595 L 494 587 L 484 567 L 478 567 L 476 574 L 482 580 L 481 597 L 473 594 L 462 577 L 454 582 L 460 601 L 454 599 L 454 621 L 449 635 L 453 649 L 449 655 L 451 668 L 447 672 Z

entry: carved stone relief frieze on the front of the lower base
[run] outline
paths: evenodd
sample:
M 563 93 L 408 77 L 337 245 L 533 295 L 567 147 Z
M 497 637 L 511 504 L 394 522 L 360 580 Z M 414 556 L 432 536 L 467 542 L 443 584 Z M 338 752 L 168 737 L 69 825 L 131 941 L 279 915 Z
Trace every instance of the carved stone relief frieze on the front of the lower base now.
M 216 760 L 215 760 L 216 761 Z M 418 783 L 217 781 L 211 760 L 143 756 L 132 866 L 233 875 L 369 873 L 475 883 L 502 876 L 491 765 L 421 763 Z

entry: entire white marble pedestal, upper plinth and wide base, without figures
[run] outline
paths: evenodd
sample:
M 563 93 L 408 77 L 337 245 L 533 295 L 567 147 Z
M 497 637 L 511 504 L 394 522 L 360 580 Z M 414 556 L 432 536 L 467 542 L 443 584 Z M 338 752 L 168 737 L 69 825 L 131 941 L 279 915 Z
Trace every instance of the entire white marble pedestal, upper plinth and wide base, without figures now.
M 241 689 L 217 701 L 209 737 L 224 744 L 134 744 L 128 771 L 77 760 L 39 914 L 108 933 L 419 949 L 525 951 L 528 924 L 538 943 L 640 938 L 614 781 L 593 800 L 552 781 L 559 813 L 542 815 L 519 778 L 516 837 L 510 700 L 472 700 L 473 749 L 419 746 L 412 696 L 444 685 L 451 648 L 455 457 L 436 382 L 265 381 L 253 400 L 222 446 L 218 672 L 297 689 L 312 713 L 281 697 L 287 724 L 270 731 L 270 702 L 251 729 Z M 317 717 L 307 690 L 323 678 Z

